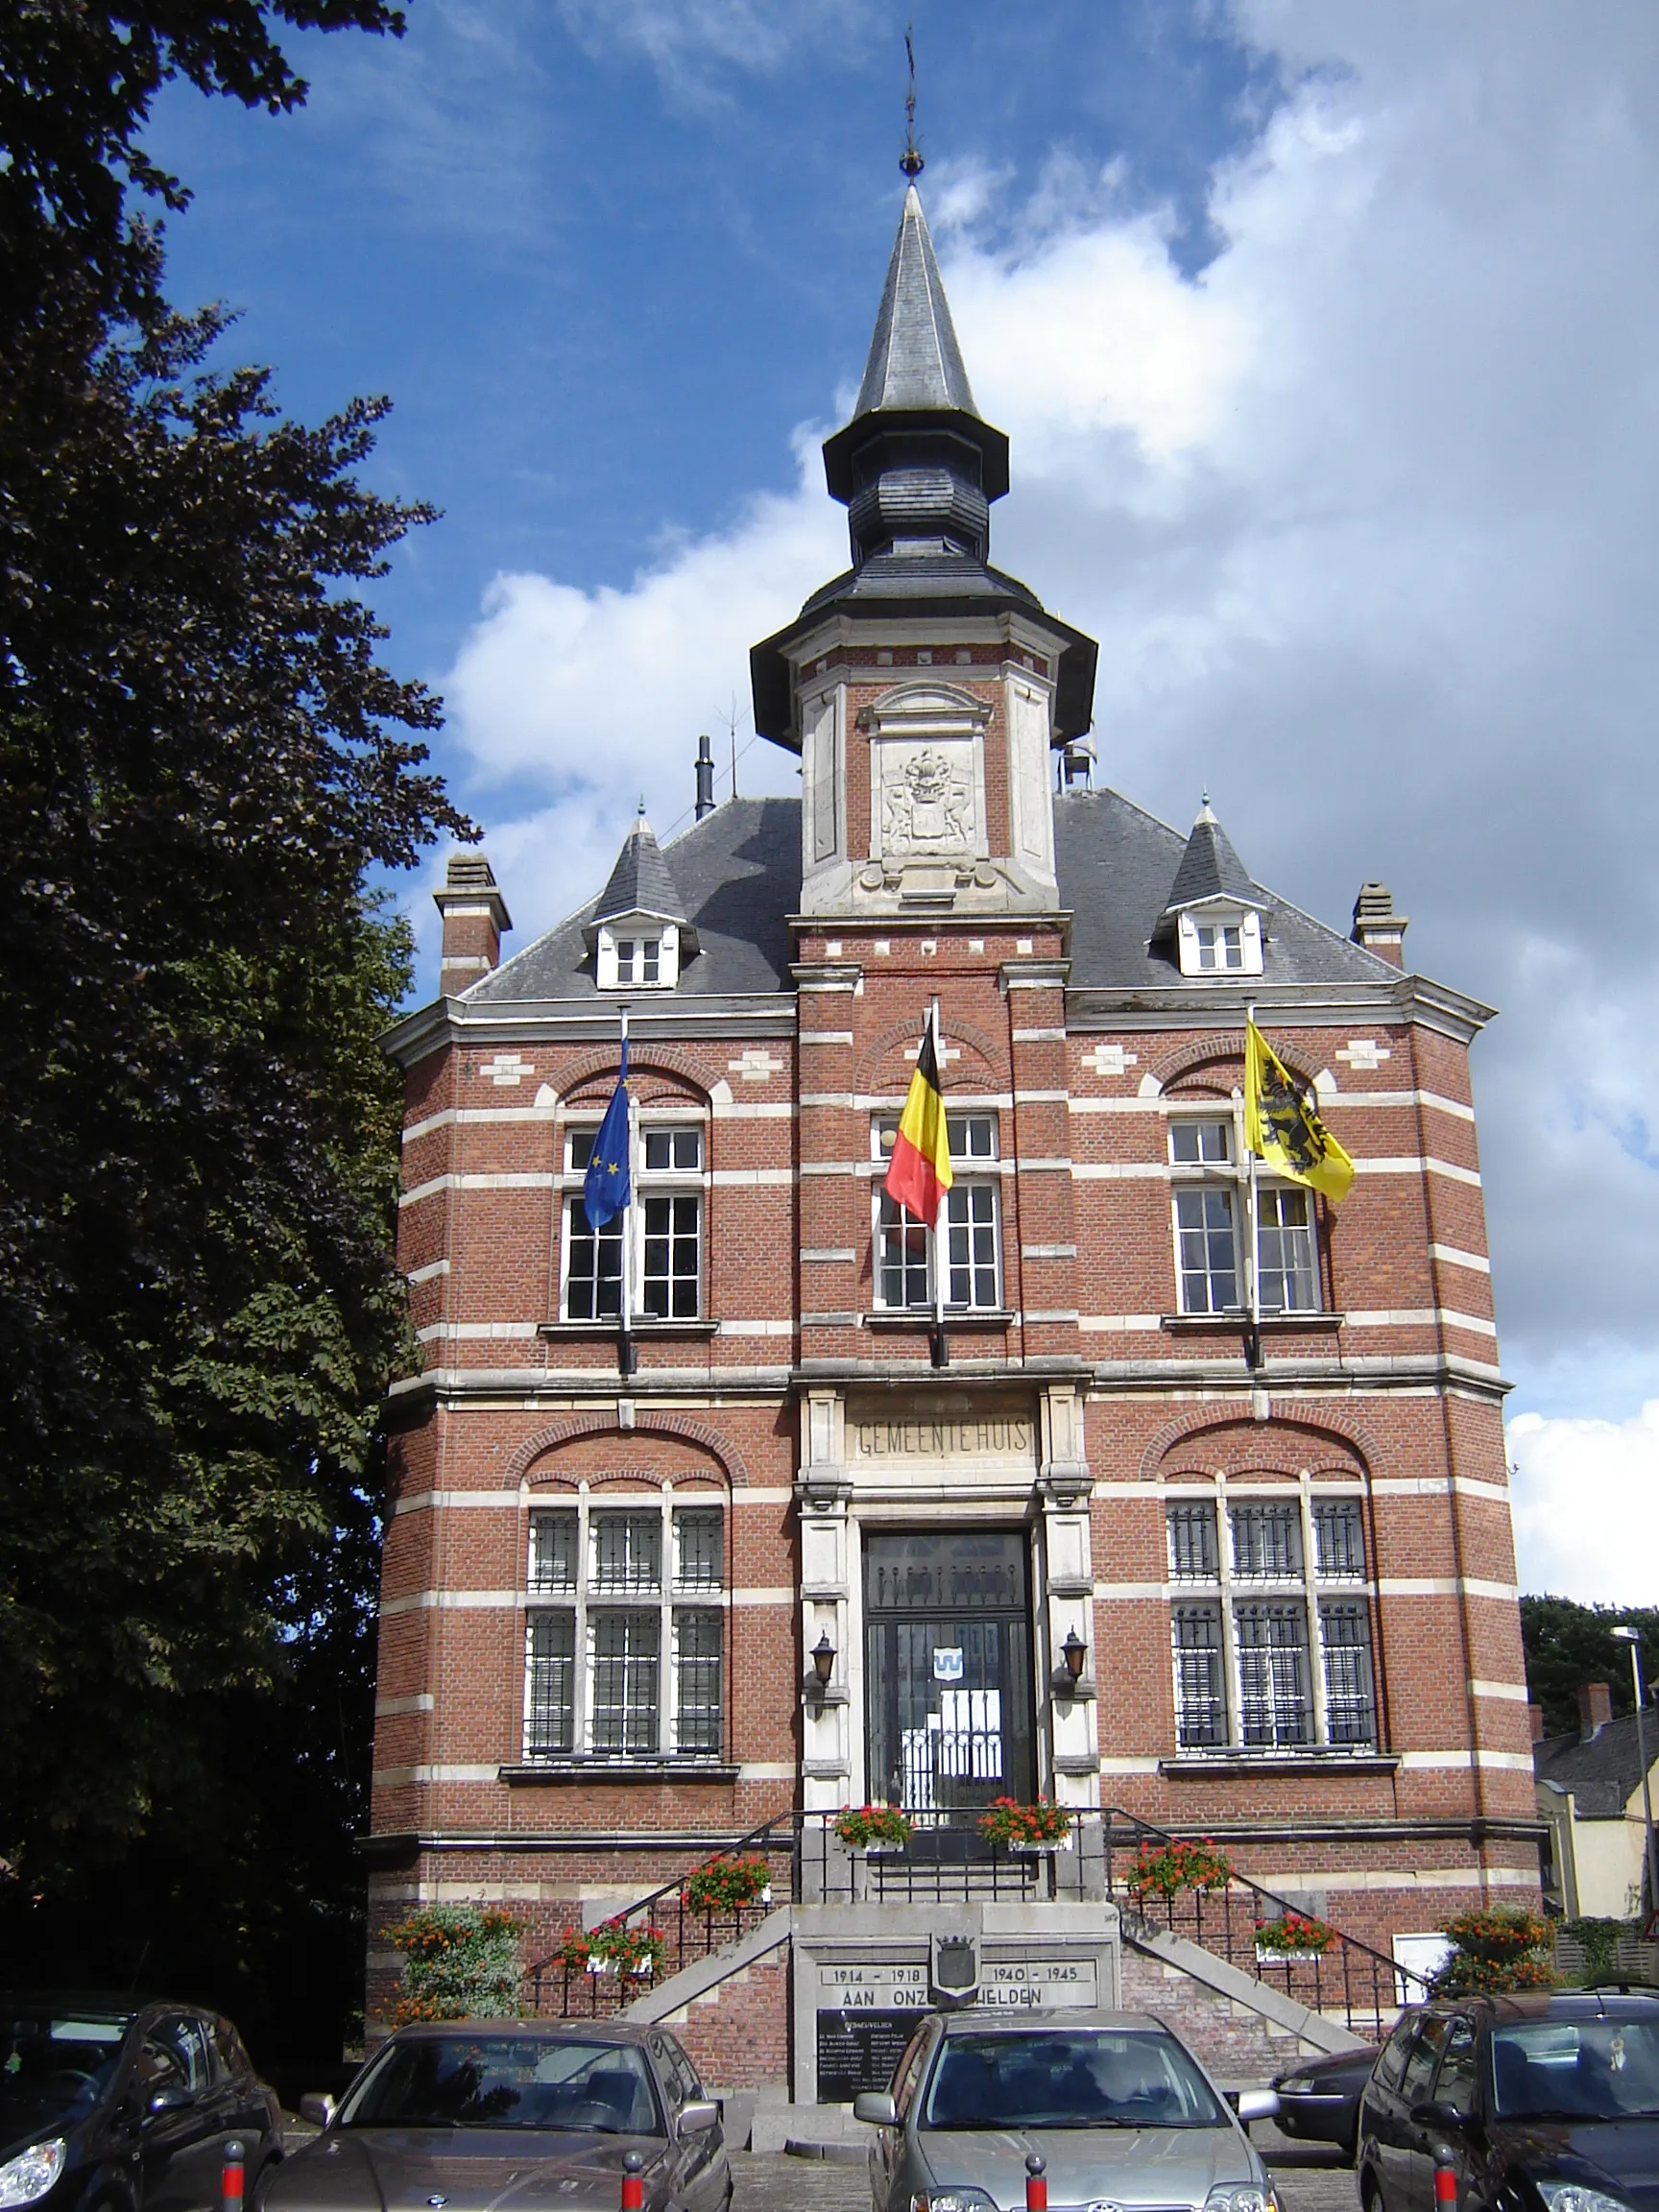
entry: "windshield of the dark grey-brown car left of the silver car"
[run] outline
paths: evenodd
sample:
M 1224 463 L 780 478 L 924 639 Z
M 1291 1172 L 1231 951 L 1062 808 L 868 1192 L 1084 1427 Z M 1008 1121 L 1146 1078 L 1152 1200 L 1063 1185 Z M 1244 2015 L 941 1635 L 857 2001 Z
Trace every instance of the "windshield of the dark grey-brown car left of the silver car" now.
M 661 2135 L 633 2044 L 465 2031 L 389 2044 L 345 2099 L 341 2126 Z

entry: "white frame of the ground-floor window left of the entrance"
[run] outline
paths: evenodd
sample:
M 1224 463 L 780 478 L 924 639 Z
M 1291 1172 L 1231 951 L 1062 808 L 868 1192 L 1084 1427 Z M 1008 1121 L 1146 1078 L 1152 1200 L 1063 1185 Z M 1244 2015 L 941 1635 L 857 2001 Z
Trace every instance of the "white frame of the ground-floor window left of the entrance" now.
M 538 1582 L 535 1555 L 538 1555 L 538 1524 L 551 1515 L 568 1515 L 575 1533 L 575 1579 L 571 1584 L 557 1586 Z M 712 1559 L 719 1573 L 717 1582 L 708 1579 L 708 1546 L 699 1546 L 699 1564 L 703 1573 L 697 1579 L 688 1579 L 686 1546 L 681 1535 L 688 1533 L 686 1515 L 717 1515 L 719 1531 L 712 1546 Z M 628 1584 L 606 1584 L 599 1577 L 597 1566 L 597 1537 L 599 1528 L 619 1520 L 657 1522 L 657 1582 L 650 1586 L 628 1586 Z M 730 1515 L 723 1498 L 712 1498 L 708 1491 L 684 1491 L 675 1493 L 672 1484 L 666 1484 L 659 1493 L 635 1495 L 635 1498 L 591 1498 L 584 1489 L 577 1498 L 549 1500 L 546 1504 L 531 1506 L 526 1555 L 524 1555 L 524 1759 L 531 1765 L 568 1765 L 568 1763 L 593 1763 L 593 1765 L 721 1765 L 726 1756 L 726 1732 L 728 1732 L 728 1644 L 726 1632 L 730 1615 L 730 1571 L 728 1571 L 728 1546 L 730 1546 Z M 666 1566 L 666 1571 L 664 1571 Z M 655 1728 L 650 1745 L 595 1745 L 595 1712 L 597 1694 L 595 1679 L 599 1668 L 597 1637 L 602 1624 L 617 1617 L 637 1617 L 639 1621 L 650 1621 L 657 1630 L 657 1657 L 655 1657 Z M 571 1743 L 568 1747 L 542 1747 L 535 1734 L 538 1717 L 538 1672 L 535 1672 L 535 1630 L 540 1621 L 562 1619 L 571 1624 Z M 681 1641 L 688 1630 L 706 1635 L 706 1624 L 717 1624 L 717 1648 L 714 1648 L 714 1670 L 717 1670 L 717 1699 L 710 1708 L 703 1703 L 692 1703 L 686 1699 L 686 1683 L 681 1679 L 681 1657 L 686 1666 L 708 1663 L 706 1655 L 684 1655 Z M 624 1661 L 626 1663 L 626 1661 Z M 692 1717 L 706 1717 L 714 1712 L 714 1741 L 684 1743 L 681 1734 L 690 1732 L 688 1721 Z M 706 1732 L 706 1719 L 697 1721 L 697 1734 Z

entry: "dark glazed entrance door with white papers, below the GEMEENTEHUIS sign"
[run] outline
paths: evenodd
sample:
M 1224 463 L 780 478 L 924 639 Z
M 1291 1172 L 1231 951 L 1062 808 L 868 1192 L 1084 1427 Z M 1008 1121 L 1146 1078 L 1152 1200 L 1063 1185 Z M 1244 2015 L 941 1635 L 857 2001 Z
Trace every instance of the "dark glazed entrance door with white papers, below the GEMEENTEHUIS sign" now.
M 1031 1604 L 1018 1528 L 865 1537 L 869 1794 L 929 1825 L 1035 1796 Z

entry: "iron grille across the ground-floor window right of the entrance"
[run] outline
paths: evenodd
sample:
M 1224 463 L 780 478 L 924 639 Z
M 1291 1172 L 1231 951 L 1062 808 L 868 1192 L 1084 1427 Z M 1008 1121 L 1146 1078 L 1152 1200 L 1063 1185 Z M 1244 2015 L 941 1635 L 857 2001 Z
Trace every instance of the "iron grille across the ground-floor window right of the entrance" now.
M 1376 1745 L 1371 1606 L 1352 1590 L 1365 1582 L 1356 1498 L 1301 1484 L 1294 1500 L 1230 1500 L 1225 1511 L 1183 1500 L 1168 1506 L 1168 1548 L 1181 1590 L 1170 1608 L 1181 1750 Z M 1203 1584 L 1214 1595 L 1199 1597 Z

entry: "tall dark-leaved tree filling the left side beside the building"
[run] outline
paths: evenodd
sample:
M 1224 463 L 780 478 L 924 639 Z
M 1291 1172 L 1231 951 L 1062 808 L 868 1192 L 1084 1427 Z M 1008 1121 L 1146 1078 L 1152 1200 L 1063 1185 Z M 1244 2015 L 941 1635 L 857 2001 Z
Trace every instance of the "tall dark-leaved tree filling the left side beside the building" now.
M 296 1805 L 336 1843 L 361 1809 L 376 1425 L 409 1356 L 376 1046 L 409 945 L 369 887 L 469 825 L 361 597 L 427 520 L 361 482 L 383 403 L 288 422 L 261 372 L 212 369 L 223 319 L 164 299 L 146 208 L 184 190 L 144 119 L 177 75 L 296 104 L 281 22 L 400 29 L 383 0 L 0 9 L 13 1916 L 157 1851 L 186 1889 L 195 1849 L 270 1891 Z

